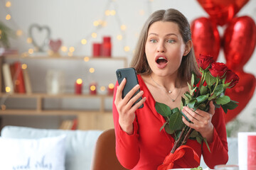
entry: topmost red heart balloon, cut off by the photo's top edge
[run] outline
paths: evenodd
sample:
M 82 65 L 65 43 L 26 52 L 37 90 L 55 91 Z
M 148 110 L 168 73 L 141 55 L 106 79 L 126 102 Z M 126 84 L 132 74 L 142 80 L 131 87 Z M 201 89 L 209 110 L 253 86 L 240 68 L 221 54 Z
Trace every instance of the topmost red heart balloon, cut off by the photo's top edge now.
M 214 23 L 224 26 L 249 0 L 197 0 Z

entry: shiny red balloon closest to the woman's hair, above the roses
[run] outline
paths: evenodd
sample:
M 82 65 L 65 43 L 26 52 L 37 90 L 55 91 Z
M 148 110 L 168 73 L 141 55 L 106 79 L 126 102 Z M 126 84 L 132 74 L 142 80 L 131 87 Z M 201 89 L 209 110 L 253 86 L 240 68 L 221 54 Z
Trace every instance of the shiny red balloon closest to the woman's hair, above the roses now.
M 209 18 L 197 18 L 191 23 L 191 33 L 196 59 L 201 54 L 211 55 L 216 61 L 220 52 L 220 35 L 217 26 Z

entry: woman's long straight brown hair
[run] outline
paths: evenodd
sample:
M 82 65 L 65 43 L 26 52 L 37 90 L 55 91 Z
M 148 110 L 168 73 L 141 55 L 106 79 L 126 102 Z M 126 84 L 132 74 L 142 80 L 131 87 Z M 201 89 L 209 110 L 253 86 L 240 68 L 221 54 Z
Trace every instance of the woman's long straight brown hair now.
M 186 43 L 188 40 L 191 40 L 190 25 L 186 17 L 183 16 L 181 12 L 170 8 L 152 13 L 142 28 L 142 32 L 139 36 L 137 47 L 130 64 L 130 66 L 134 67 L 139 74 L 150 74 L 152 72 L 146 60 L 145 45 L 149 27 L 156 21 L 169 21 L 177 23 L 183 42 Z M 183 56 L 181 66 L 178 68 L 178 77 L 183 81 L 190 81 L 192 72 L 195 72 L 197 76 L 201 75 L 196 64 L 196 57 L 193 52 L 193 47 L 191 48 L 190 52 L 188 52 L 188 55 Z

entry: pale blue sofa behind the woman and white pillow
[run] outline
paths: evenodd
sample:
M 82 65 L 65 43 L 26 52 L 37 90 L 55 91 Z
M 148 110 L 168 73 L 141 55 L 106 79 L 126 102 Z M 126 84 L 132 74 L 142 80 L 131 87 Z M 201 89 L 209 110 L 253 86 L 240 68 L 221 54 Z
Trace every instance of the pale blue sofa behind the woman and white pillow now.
M 65 156 L 66 170 L 91 169 L 92 156 L 97 138 L 102 130 L 46 130 L 36 128 L 25 128 L 6 126 L 1 130 L 2 138 L 16 139 L 41 139 L 43 137 L 57 137 L 65 135 Z M 18 141 L 19 142 L 19 141 Z M 20 143 L 20 142 L 19 142 Z M 1 144 L 1 142 L 0 142 Z M 59 144 L 58 144 L 59 145 Z M 1 146 L 0 146 L 1 147 Z M 238 164 L 238 140 L 228 138 L 229 161 L 228 164 Z M 1 158 L 0 158 L 1 160 Z M 201 159 L 201 166 L 206 164 Z M 0 168 L 1 169 L 1 168 Z

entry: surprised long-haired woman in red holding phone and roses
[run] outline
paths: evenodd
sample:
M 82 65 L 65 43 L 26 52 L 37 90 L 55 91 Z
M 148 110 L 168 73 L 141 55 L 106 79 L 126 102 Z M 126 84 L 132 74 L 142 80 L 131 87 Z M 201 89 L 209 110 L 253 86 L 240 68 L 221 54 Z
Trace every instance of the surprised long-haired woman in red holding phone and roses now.
M 156 11 L 144 24 L 137 50 L 131 63 L 137 70 L 139 86 L 122 99 L 126 84 L 116 84 L 114 89 L 113 118 L 116 135 L 116 153 L 119 162 L 127 169 L 156 170 L 174 146 L 174 138 L 164 130 L 159 131 L 166 120 L 156 112 L 155 103 L 165 103 L 170 108 L 180 107 L 181 96 L 188 91 L 187 82 L 192 72 L 198 72 L 191 30 L 182 13 L 175 9 Z M 137 89 L 141 92 L 131 98 Z M 132 106 L 139 97 L 143 99 Z M 144 103 L 143 108 L 139 106 Z M 210 103 L 209 113 L 188 107 L 183 113 L 192 121 L 183 118 L 183 123 L 206 137 L 200 145 L 188 140 L 199 157 L 203 154 L 206 164 L 213 169 L 216 164 L 228 162 L 228 144 L 223 112 Z M 178 162 L 186 166 L 180 167 Z M 191 168 L 189 160 L 174 162 L 174 168 Z M 197 165 L 199 166 L 199 164 Z

